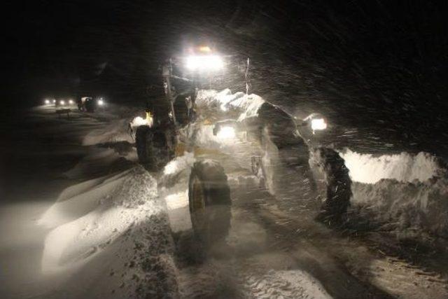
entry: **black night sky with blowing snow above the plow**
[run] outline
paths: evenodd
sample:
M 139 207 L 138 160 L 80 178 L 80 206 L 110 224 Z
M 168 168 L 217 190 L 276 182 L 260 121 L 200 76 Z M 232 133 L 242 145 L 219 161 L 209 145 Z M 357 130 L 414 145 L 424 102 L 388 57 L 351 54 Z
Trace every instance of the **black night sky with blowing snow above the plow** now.
M 141 102 L 158 62 L 200 36 L 251 56 L 253 91 L 277 104 L 311 99 L 351 123 L 444 130 L 445 2 L 22 1 L 6 31 L 6 99 L 21 106 L 94 90 Z

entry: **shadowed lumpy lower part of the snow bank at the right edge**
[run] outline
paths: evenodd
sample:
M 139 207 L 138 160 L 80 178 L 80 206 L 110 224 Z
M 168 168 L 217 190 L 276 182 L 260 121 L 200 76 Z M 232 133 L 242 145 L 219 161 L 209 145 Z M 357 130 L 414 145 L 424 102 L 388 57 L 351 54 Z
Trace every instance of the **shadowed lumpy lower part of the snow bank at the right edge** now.
M 405 183 L 382 179 L 374 184 L 353 183 L 352 204 L 402 237 L 430 233 L 448 237 L 448 179 Z

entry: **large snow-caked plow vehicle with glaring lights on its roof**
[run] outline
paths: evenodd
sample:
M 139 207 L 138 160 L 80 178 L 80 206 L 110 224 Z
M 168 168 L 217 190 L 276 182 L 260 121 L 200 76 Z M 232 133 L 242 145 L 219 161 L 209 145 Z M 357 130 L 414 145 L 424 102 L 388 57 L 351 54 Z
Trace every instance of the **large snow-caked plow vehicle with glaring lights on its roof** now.
M 351 197 L 344 160 L 330 148 L 310 146 L 295 119 L 265 99 L 247 90 L 211 90 L 211 78 L 223 68 L 225 60 L 209 47 L 167 60 L 162 67 L 167 101 L 133 122 L 140 124 L 139 162 L 148 170 L 158 172 L 176 155 L 194 153 L 188 200 L 195 237 L 207 247 L 228 235 L 228 174 L 235 169 L 250 172 L 289 213 L 342 223 Z M 326 128 L 321 117 L 302 123 Z

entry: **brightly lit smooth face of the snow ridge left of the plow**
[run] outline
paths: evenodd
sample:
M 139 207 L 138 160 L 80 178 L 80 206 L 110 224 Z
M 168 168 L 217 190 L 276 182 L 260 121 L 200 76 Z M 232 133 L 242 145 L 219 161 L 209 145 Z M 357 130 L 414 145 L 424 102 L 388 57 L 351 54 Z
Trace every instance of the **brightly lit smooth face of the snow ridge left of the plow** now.
M 71 268 L 111 244 L 131 225 L 148 215 L 164 212 L 165 205 L 155 201 L 157 182 L 142 167 L 115 176 L 95 179 L 73 186 L 82 193 L 57 201 L 38 221 L 54 227 L 45 239 L 43 272 Z

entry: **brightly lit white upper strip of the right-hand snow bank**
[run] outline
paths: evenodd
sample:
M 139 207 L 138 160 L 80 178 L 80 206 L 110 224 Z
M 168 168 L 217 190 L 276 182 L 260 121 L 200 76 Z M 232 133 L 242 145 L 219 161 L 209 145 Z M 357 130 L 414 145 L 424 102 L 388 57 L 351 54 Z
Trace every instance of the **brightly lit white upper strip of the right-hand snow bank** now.
M 361 183 L 377 183 L 381 179 L 396 179 L 402 182 L 427 181 L 433 176 L 443 176 L 446 169 L 440 166 L 439 160 L 429 153 L 411 155 L 400 153 L 397 155 L 360 154 L 348 148 L 340 151 L 339 155 L 345 160 L 350 169 L 352 181 Z

